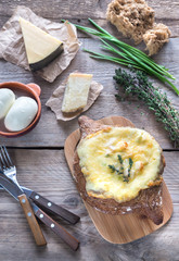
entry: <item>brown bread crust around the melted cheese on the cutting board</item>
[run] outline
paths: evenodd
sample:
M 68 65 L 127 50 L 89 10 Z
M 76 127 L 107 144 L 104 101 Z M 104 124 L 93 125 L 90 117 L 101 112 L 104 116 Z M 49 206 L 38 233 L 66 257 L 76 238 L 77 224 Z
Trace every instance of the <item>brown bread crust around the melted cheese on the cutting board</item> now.
M 100 129 L 106 128 L 106 125 L 97 123 L 87 116 L 79 117 L 79 126 L 81 139 L 84 139 L 89 134 L 93 134 Z M 162 154 L 158 175 L 163 173 L 164 166 L 165 160 Z M 86 178 L 81 172 L 77 152 L 75 152 L 74 156 L 74 177 L 82 199 L 97 210 L 110 214 L 126 214 L 135 212 L 140 216 L 148 216 L 155 224 L 161 224 L 163 222 L 163 183 L 161 183 L 159 185 L 155 184 L 154 186 L 151 186 L 151 188 L 141 190 L 138 197 L 123 203 L 119 203 L 112 198 L 101 199 L 97 197 L 91 197 L 87 194 L 86 190 Z

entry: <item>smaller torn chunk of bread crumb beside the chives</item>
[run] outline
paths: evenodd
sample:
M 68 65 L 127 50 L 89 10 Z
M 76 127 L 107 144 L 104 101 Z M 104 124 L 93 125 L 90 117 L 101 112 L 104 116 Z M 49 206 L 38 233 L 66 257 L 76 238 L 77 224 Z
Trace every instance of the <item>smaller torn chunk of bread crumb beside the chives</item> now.
M 149 55 L 153 55 L 159 51 L 165 42 L 168 42 L 170 30 L 164 24 L 154 24 L 152 29 L 149 29 L 143 35 Z

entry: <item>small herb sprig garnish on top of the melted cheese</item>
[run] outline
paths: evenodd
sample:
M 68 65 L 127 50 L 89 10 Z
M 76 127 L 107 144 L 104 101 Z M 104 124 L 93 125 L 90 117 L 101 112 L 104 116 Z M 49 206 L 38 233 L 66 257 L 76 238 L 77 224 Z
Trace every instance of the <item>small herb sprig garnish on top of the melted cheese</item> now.
M 115 167 L 115 165 L 108 165 L 108 167 L 111 169 L 111 172 L 112 172 L 112 173 L 116 173 L 117 175 L 122 175 L 122 176 L 123 176 L 123 181 L 128 183 L 128 182 L 129 182 L 130 171 L 131 171 L 133 161 L 132 161 L 131 158 L 129 158 L 128 175 L 126 176 L 126 175 L 124 174 L 124 166 L 123 166 L 123 162 L 124 162 L 124 161 L 123 161 L 123 159 L 122 159 L 122 156 L 118 154 L 118 156 L 117 156 L 117 159 L 118 159 L 118 161 L 119 161 L 119 163 L 120 163 L 120 167 L 117 169 L 117 167 Z

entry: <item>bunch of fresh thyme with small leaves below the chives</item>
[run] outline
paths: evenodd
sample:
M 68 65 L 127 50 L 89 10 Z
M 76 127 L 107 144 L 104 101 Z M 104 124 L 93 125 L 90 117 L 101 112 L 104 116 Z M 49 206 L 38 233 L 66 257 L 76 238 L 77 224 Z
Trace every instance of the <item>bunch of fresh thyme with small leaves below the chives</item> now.
M 157 87 L 154 87 L 142 71 L 131 69 L 131 73 L 128 73 L 118 69 L 115 71 L 114 79 L 124 87 L 126 95 L 137 96 L 150 110 L 154 111 L 156 120 L 163 122 L 165 129 L 169 133 L 175 148 L 179 147 L 179 112 L 171 105 L 166 94 L 162 94 Z M 119 95 L 116 97 L 119 98 Z

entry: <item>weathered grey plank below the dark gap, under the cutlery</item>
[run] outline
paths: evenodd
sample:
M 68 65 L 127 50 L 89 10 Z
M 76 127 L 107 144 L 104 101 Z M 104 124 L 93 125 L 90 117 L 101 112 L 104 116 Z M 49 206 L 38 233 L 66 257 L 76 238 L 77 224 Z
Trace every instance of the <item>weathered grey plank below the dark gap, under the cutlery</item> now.
M 81 216 L 75 226 L 63 224 L 81 241 L 77 252 L 42 225 L 48 240 L 47 248 L 37 248 L 18 203 L 7 192 L 0 191 L 0 252 L 3 260 L 82 260 L 82 261 L 178 261 L 179 233 L 179 177 L 178 153 L 165 152 L 165 182 L 174 200 L 174 215 L 159 231 L 127 245 L 105 241 L 94 228 L 76 190 L 67 169 L 63 150 L 10 150 L 17 164 L 17 178 L 59 204 Z M 9 250 L 8 250 L 9 249 Z M 11 251 L 10 251 L 11 249 Z

